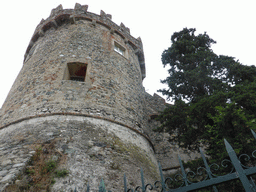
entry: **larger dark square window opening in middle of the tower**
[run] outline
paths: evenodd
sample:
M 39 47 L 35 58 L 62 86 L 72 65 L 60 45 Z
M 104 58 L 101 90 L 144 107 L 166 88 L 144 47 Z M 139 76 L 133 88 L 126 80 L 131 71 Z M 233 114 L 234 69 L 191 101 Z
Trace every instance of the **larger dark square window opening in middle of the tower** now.
M 85 81 L 87 64 L 80 62 L 68 63 L 67 71 L 64 75 L 65 80 Z

